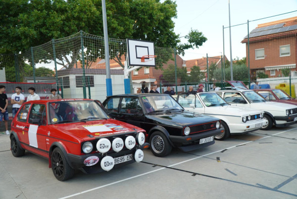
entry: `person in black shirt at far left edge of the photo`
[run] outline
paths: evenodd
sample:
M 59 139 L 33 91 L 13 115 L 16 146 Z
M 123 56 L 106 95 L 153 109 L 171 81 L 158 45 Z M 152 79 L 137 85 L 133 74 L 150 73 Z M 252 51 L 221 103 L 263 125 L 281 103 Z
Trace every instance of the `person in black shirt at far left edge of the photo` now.
M 8 99 L 7 95 L 4 93 L 5 92 L 5 86 L 0 85 L 0 123 L 2 122 L 4 118 L 4 124 L 5 124 L 5 129 L 6 129 L 6 135 L 9 135 L 8 131 L 8 111 L 7 111 L 7 106 L 8 106 Z

